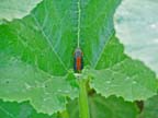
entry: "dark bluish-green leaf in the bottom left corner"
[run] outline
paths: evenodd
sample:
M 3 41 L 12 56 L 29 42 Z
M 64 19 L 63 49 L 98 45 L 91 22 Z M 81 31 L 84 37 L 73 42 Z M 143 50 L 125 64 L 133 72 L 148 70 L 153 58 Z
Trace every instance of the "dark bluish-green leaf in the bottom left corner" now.
M 48 116 L 37 114 L 35 109 L 27 103 L 10 103 L 0 101 L 0 117 L 1 118 L 57 118 L 56 115 Z

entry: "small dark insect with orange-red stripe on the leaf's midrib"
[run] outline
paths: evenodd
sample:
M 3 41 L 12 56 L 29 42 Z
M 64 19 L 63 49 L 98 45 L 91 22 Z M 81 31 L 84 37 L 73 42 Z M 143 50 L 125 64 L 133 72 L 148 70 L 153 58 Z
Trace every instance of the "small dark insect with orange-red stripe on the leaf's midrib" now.
M 83 54 L 80 48 L 77 48 L 74 55 L 74 70 L 75 72 L 81 72 L 82 69 L 83 69 Z

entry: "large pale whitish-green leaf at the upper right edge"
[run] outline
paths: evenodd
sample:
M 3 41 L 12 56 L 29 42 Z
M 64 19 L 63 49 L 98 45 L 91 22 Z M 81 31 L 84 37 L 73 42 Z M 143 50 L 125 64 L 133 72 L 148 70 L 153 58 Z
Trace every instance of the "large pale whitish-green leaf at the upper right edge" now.
M 157 10 L 157 0 L 123 0 L 114 22 L 125 52 L 145 62 L 158 75 Z

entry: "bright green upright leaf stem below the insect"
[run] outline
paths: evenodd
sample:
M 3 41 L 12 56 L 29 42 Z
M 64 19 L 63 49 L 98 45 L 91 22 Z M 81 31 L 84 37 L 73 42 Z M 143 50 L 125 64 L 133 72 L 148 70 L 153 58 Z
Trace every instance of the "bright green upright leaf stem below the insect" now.
M 80 118 L 90 118 L 89 116 L 89 105 L 88 105 L 88 95 L 87 95 L 87 81 L 83 79 L 79 80 L 79 113 Z

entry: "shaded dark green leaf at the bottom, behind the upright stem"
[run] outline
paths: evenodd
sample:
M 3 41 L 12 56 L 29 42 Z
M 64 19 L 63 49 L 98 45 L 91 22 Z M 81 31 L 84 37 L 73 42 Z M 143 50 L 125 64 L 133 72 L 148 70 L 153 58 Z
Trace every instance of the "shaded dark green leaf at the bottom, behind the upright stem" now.
M 124 102 L 121 97 L 110 96 L 104 98 L 100 95 L 89 96 L 91 118 L 136 118 L 138 109 L 135 104 Z M 79 118 L 77 101 L 68 104 L 70 118 Z

